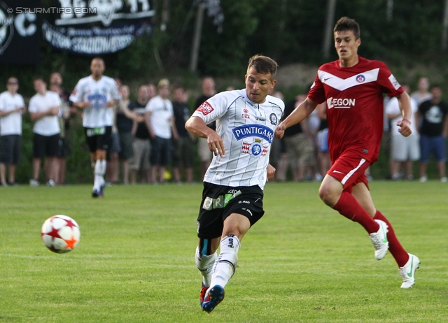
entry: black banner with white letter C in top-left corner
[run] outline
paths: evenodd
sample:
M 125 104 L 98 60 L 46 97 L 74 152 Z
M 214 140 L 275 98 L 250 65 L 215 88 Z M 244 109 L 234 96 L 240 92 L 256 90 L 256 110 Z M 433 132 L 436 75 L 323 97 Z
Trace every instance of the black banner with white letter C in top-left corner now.
M 41 62 L 40 0 L 0 0 L 0 64 Z

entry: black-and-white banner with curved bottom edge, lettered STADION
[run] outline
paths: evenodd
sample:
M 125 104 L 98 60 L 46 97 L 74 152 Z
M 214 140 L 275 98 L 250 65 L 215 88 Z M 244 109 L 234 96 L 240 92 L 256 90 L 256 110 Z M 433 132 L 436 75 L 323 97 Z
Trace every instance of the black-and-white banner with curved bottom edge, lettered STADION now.
M 1 1 L 1 0 L 0 0 Z M 52 47 L 81 55 L 103 55 L 126 48 L 151 33 L 150 0 L 57 0 L 55 24 L 44 21 L 43 38 Z

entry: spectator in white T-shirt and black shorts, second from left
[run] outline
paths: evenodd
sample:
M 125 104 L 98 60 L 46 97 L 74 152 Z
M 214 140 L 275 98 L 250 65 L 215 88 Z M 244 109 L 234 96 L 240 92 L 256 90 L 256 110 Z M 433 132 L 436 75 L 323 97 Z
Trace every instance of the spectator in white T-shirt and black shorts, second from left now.
M 34 122 L 33 178 L 29 181 L 29 185 L 39 185 L 41 159 L 47 157 L 47 167 L 45 168 L 47 185 L 55 186 L 58 173 L 57 156 L 60 132 L 57 115 L 60 113 L 62 103 L 59 94 L 47 91 L 47 83 L 43 78 L 34 78 L 33 84 L 36 94 L 29 100 L 29 113 L 31 121 Z

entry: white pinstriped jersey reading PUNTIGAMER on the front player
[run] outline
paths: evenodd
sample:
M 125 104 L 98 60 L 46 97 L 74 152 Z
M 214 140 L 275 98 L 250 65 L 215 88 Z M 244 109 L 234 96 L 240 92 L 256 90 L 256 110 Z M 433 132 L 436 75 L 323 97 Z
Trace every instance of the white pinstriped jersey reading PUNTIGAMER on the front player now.
M 204 182 L 263 189 L 274 131 L 284 109 L 283 101 L 270 95 L 264 103 L 253 103 L 246 89 L 221 92 L 202 103 L 193 116 L 206 124 L 216 120 L 225 148 L 225 156 L 214 156 Z

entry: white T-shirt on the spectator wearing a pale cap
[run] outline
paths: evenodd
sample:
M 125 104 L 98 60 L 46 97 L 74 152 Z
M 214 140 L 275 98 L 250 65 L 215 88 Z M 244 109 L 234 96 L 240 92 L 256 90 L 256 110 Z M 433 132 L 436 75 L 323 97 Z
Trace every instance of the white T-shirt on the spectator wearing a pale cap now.
M 155 136 L 160 138 L 171 138 L 171 125 L 173 123 L 173 103 L 169 99 L 154 96 L 146 104 L 146 111 L 151 111 L 151 127 Z

